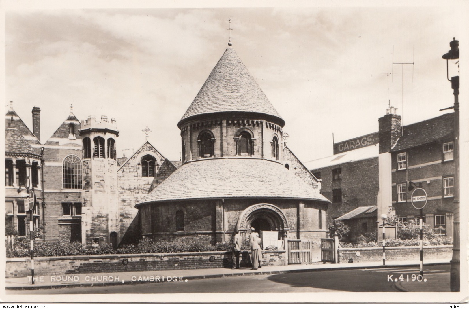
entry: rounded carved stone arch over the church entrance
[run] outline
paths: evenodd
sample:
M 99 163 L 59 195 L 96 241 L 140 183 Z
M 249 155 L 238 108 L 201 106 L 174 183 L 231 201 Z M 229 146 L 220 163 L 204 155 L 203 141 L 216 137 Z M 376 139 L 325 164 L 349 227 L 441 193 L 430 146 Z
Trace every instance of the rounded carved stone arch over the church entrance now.
M 260 231 L 278 231 L 278 239 L 282 239 L 288 228 L 287 218 L 279 207 L 272 204 L 256 204 L 246 208 L 239 216 L 236 228 L 249 233 L 254 228 Z

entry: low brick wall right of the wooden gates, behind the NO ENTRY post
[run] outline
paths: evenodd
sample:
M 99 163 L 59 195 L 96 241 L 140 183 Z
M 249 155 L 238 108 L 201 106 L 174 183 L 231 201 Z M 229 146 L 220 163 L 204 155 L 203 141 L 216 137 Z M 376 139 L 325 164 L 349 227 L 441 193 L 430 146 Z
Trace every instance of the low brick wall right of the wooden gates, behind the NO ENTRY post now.
M 386 261 L 420 260 L 420 248 L 385 247 Z M 424 261 L 428 259 L 451 259 L 453 245 L 424 246 Z M 379 262 L 383 260 L 383 247 L 339 248 L 339 263 Z

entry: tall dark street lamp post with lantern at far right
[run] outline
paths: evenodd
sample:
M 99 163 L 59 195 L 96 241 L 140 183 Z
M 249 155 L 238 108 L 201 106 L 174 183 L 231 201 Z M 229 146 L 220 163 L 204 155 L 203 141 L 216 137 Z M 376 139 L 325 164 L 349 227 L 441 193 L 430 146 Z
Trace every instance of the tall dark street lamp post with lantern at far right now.
M 441 58 L 446 59 L 446 78 L 451 81 L 451 88 L 454 95 L 454 106 L 448 108 L 454 109 L 454 205 L 453 205 L 453 258 L 451 259 L 450 284 L 452 292 L 460 291 L 460 235 L 459 235 L 459 60 L 458 75 L 448 77 L 448 60 L 459 59 L 459 41 L 453 37 L 449 43 L 451 50 Z M 445 109 L 446 110 L 446 109 Z

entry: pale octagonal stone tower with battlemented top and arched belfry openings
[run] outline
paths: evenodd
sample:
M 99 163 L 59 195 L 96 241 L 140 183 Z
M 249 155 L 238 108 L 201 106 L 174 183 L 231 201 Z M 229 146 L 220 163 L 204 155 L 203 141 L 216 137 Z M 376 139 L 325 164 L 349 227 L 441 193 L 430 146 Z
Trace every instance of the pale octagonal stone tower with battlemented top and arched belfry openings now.
M 82 239 L 88 243 L 117 246 L 119 191 L 117 186 L 115 119 L 101 116 L 82 122 L 83 193 Z

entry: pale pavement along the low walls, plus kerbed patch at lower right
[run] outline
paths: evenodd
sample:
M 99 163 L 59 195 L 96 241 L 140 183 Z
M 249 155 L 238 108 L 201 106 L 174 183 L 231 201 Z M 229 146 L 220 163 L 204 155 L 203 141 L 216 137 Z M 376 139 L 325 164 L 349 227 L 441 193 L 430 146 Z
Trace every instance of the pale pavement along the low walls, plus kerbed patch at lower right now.
M 427 260 L 424 265 L 449 265 L 447 259 Z M 348 270 L 364 268 L 383 268 L 383 267 L 405 267 L 414 266 L 419 268 L 415 261 L 386 261 L 370 263 L 349 263 L 349 264 L 310 264 L 310 265 L 286 265 L 286 266 L 264 266 L 257 270 L 250 268 L 230 269 L 230 268 L 205 268 L 205 269 L 182 269 L 165 270 L 150 272 L 106 272 L 106 273 L 73 273 L 56 276 L 38 276 L 35 283 L 31 284 L 30 277 L 7 278 L 7 290 L 32 290 L 32 289 L 51 289 L 61 287 L 93 287 L 109 286 L 122 284 L 145 284 L 164 281 L 181 281 L 223 278 L 230 276 L 253 276 L 270 275 L 292 272 L 315 272 L 331 270 Z M 425 267 L 424 267 L 425 270 Z M 417 281 L 399 281 L 396 288 L 402 292 L 412 292 L 414 290 L 422 291 L 422 284 Z M 424 285 L 428 292 L 435 291 L 432 285 Z

